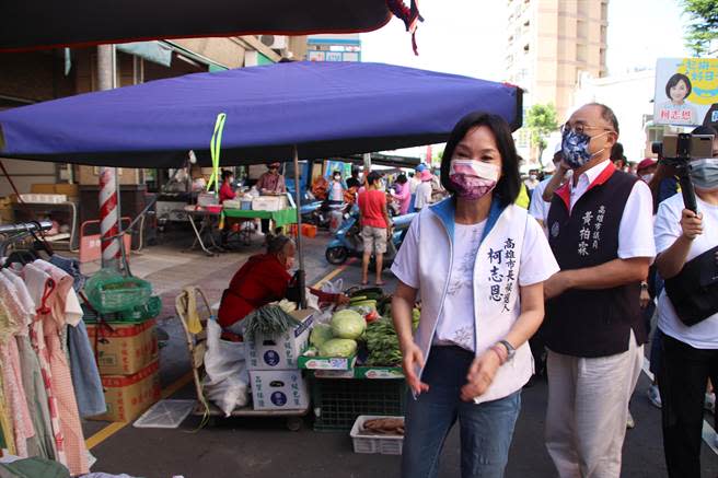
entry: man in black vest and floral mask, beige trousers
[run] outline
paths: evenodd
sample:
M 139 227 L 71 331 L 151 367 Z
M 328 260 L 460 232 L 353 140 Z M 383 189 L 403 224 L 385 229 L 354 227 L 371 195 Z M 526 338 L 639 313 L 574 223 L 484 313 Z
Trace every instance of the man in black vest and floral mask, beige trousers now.
M 546 447 L 561 478 L 618 478 L 647 340 L 639 296 L 656 255 L 651 195 L 610 161 L 618 140 L 611 108 L 579 108 L 561 135 L 574 176 L 556 190 L 546 221 L 561 268 L 544 283 Z

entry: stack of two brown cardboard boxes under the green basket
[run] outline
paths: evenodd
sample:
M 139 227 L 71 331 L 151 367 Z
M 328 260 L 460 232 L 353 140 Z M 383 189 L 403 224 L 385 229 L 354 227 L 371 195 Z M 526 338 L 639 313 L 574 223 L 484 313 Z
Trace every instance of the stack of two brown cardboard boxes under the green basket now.
M 155 320 L 88 324 L 96 343 L 97 368 L 107 412 L 93 420 L 127 422 L 160 399 L 160 361 Z

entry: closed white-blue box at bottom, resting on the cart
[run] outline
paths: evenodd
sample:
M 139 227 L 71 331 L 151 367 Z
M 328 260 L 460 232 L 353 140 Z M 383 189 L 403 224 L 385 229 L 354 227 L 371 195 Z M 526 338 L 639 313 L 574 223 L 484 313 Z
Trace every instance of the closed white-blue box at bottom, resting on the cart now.
M 309 388 L 300 370 L 250 371 L 255 410 L 304 410 Z

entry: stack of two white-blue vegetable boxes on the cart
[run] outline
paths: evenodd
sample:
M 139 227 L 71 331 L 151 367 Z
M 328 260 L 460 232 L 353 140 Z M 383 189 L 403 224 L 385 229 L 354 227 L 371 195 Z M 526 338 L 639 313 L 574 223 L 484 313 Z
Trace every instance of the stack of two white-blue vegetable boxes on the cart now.
M 291 314 L 301 322 L 279 337 L 260 335 L 247 340 L 247 369 L 255 410 L 305 410 L 309 389 L 299 355 L 309 346 L 312 327 L 311 311 Z

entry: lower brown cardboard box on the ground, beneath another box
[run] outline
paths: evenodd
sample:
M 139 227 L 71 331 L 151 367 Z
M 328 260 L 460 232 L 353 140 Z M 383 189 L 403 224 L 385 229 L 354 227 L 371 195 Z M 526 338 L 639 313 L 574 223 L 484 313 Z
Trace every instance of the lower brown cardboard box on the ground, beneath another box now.
M 132 375 L 103 375 L 107 412 L 91 420 L 130 421 L 160 399 L 160 362 L 154 361 Z

